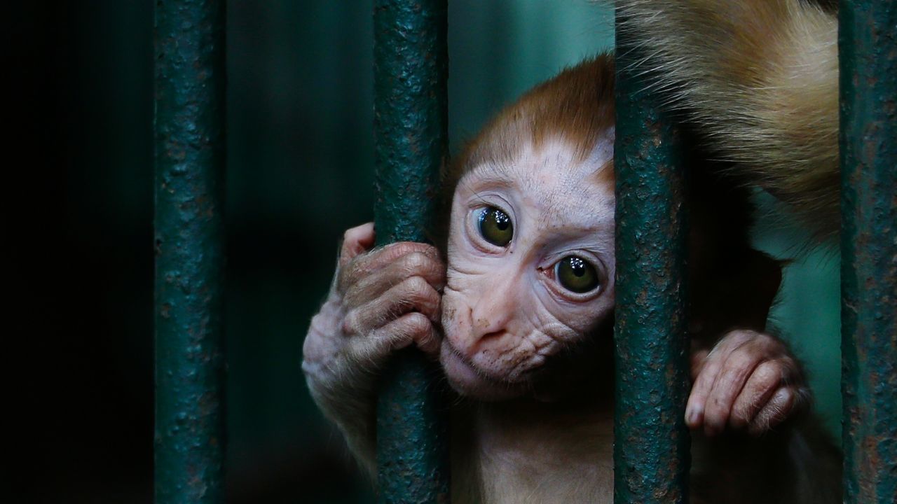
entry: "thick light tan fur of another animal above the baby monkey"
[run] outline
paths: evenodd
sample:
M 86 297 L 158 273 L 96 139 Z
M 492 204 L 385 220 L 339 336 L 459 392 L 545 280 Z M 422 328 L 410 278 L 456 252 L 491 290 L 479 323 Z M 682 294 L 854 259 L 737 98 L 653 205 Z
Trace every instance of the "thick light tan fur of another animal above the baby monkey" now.
M 644 70 L 718 156 L 822 235 L 840 223 L 837 16 L 806 0 L 619 0 Z

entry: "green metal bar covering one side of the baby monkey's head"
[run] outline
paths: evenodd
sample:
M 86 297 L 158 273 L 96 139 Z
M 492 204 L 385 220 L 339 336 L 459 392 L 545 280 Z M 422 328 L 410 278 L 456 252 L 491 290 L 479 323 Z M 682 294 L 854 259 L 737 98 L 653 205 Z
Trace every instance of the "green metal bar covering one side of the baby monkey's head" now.
M 638 52 L 620 23 L 618 17 L 614 502 L 686 503 L 684 152 L 658 96 L 634 70 Z

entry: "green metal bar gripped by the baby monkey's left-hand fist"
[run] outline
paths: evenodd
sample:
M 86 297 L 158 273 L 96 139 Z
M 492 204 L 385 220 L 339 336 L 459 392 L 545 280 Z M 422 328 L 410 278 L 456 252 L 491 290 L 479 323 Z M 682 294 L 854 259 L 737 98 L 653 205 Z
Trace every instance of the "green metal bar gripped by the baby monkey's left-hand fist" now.
M 447 2 L 374 3 L 374 135 L 379 244 L 430 234 L 447 152 Z M 447 412 L 437 369 L 405 350 L 377 404 L 379 502 L 448 502 Z

